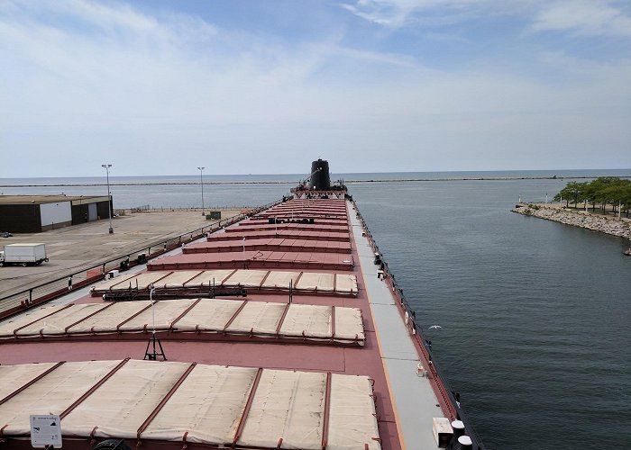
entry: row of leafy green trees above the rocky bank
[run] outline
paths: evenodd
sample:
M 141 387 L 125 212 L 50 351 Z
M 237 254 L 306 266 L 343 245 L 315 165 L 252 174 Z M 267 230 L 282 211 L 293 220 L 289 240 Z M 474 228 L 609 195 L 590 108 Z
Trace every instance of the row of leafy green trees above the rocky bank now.
M 610 204 L 614 214 L 617 214 L 617 208 L 620 208 L 621 211 L 626 211 L 626 217 L 629 217 L 631 180 L 618 176 L 601 176 L 582 183 L 571 181 L 562 188 L 560 193 L 554 195 L 554 201 L 564 201 L 566 208 L 570 207 L 571 202 L 574 203 L 575 208 L 579 203 L 587 208 L 589 203 L 592 211 L 596 211 L 596 205 L 599 205 L 603 214 L 606 213 L 607 205 Z

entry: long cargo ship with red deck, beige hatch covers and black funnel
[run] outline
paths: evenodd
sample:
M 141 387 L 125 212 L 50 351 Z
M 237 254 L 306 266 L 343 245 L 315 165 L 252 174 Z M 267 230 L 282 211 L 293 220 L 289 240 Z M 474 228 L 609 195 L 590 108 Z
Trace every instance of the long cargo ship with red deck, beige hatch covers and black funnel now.
M 2 445 L 57 414 L 65 448 L 470 448 L 325 163 L 178 255 L 0 323 Z

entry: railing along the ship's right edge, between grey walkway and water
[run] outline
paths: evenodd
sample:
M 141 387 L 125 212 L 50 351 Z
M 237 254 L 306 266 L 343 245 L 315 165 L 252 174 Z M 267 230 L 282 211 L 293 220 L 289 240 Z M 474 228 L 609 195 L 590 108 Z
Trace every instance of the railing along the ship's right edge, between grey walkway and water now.
M 375 254 L 380 255 L 381 270 L 383 271 L 384 279 L 389 284 L 392 293 L 398 301 L 397 304 L 402 316 L 406 318 L 407 328 L 413 338 L 412 340 L 415 344 L 416 351 L 427 363 L 426 370 L 429 373 L 428 376 L 432 378 L 435 382 L 433 383 L 434 392 L 436 392 L 436 394 L 440 397 L 442 403 L 449 411 L 449 414 L 451 415 L 450 419 L 458 419 L 462 421 L 465 428 L 465 434 L 471 437 L 471 441 L 473 443 L 472 448 L 475 450 L 486 450 L 486 447 L 482 443 L 482 440 L 475 432 L 475 429 L 472 427 L 471 421 L 467 419 L 466 415 L 462 411 L 460 405 L 460 394 L 453 392 L 449 383 L 447 382 L 447 378 L 444 375 L 444 372 L 440 369 L 440 367 L 432 358 L 432 349 L 428 344 L 428 341 L 425 340 L 421 326 L 416 323 L 416 312 L 410 307 L 405 295 L 403 294 L 403 289 L 398 286 L 395 275 L 390 271 L 388 263 L 383 259 L 383 254 L 381 253 L 380 248 L 377 246 L 374 238 L 372 238 L 370 230 L 368 229 L 368 226 L 366 224 L 366 220 L 364 220 L 364 218 L 361 216 L 361 212 L 357 206 L 357 203 L 352 199 L 351 202 L 354 206 L 354 211 L 357 214 L 357 218 L 361 222 L 363 232 L 370 242 L 370 247 L 372 248 L 372 251 Z M 457 447 L 458 446 L 456 445 L 455 448 Z M 449 448 L 451 448 L 451 446 Z

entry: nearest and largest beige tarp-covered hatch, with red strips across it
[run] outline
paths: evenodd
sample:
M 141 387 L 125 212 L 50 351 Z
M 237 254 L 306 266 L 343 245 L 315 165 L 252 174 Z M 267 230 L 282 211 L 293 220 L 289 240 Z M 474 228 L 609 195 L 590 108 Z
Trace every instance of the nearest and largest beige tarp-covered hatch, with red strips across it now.
M 123 359 L 3 365 L 0 377 L 16 386 L 0 400 L 9 445 L 43 413 L 60 416 L 65 440 L 381 448 L 366 376 Z

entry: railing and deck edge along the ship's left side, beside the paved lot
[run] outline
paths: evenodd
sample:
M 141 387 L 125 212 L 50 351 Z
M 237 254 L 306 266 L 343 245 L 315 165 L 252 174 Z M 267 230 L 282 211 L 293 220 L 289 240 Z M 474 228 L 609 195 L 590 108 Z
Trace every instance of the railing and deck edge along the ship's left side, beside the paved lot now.
M 263 210 L 267 210 L 280 202 L 282 202 L 282 200 L 270 202 L 258 208 L 251 209 L 250 211 L 219 220 L 210 225 L 187 231 L 173 238 L 154 242 L 148 247 L 130 247 L 129 251 L 124 252 L 118 257 L 87 266 L 77 272 L 70 272 L 55 280 L 32 286 L 23 291 L 0 297 L 0 319 L 40 305 L 43 302 L 48 302 L 70 291 L 84 287 L 87 284 L 95 283 L 103 279 L 105 274 L 112 270 L 127 270 L 130 267 L 144 264 L 149 259 L 160 257 L 160 255 L 170 250 L 181 247 L 182 244 L 203 238 L 207 233 L 213 233 L 218 229 L 233 225 L 238 221 L 247 219 Z

